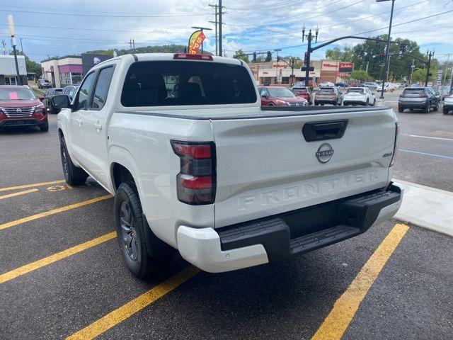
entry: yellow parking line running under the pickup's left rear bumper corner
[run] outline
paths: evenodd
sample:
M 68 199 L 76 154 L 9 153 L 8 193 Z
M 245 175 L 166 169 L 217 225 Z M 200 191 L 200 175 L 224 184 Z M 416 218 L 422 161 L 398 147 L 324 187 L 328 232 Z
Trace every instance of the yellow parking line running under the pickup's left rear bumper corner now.
M 119 324 L 123 320 L 130 317 L 132 314 L 135 314 L 142 310 L 144 307 L 147 307 L 152 302 L 158 300 L 160 297 L 163 297 L 171 290 L 178 287 L 178 285 L 184 283 L 189 278 L 192 278 L 200 271 L 200 269 L 194 266 L 188 266 L 188 268 L 183 269 L 175 276 L 168 278 L 163 283 L 159 283 L 155 287 L 151 288 L 147 292 L 139 295 L 139 297 L 134 298 L 130 302 L 127 302 L 125 305 L 113 310 L 112 312 L 104 315 L 101 319 L 89 324 L 87 327 L 77 331 L 76 333 L 68 336 L 67 340 L 75 339 L 93 339 L 99 334 L 102 334 L 104 331 L 107 331 L 111 327 Z

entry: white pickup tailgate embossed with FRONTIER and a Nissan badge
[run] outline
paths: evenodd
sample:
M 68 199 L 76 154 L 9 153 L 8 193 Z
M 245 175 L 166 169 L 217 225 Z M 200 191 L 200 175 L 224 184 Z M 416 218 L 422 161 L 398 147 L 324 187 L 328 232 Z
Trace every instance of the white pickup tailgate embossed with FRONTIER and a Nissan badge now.
M 371 191 L 389 182 L 396 129 L 391 109 L 266 113 L 262 118 L 212 120 L 216 228 Z M 344 135 L 329 139 L 342 126 L 338 122 L 343 122 Z M 304 125 L 309 127 L 305 134 Z

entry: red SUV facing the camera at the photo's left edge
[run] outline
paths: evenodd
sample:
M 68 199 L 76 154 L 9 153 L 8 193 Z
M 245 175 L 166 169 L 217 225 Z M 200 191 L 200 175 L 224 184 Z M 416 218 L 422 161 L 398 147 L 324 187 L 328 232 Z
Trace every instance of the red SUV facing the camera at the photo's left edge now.
M 11 126 L 49 130 L 45 106 L 28 86 L 0 85 L 0 128 Z

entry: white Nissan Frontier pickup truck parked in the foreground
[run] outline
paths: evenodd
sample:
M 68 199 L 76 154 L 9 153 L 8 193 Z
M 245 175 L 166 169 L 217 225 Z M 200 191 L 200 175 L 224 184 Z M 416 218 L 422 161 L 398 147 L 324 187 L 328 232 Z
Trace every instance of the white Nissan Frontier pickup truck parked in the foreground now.
M 392 217 L 398 123 L 391 108 L 260 106 L 240 60 L 122 55 L 55 96 L 67 183 L 115 196 L 134 275 L 173 249 L 232 271 L 318 249 Z

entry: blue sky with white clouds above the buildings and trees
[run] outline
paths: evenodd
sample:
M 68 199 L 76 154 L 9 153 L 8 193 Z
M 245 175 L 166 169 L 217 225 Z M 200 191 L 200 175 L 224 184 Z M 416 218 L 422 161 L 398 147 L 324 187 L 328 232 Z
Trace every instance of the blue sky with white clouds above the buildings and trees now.
M 281 48 L 280 56 L 303 57 L 302 27 L 319 28 L 318 41 L 345 35 L 388 33 L 391 1 L 375 0 L 223 0 L 223 45 L 226 56 L 236 50 L 265 52 Z M 12 14 L 25 55 L 40 62 L 56 55 L 135 46 L 187 44 L 192 26 L 214 28 L 216 0 L 65 0 L 0 1 L 0 40 L 11 50 L 6 16 Z M 446 13 L 445 13 L 446 12 Z M 395 0 L 392 38 L 415 40 L 420 52 L 435 50 L 444 61 L 453 53 L 453 0 Z M 205 32 L 205 50 L 214 52 L 214 30 Z M 327 48 L 357 45 L 340 40 Z M 275 53 L 274 53 L 275 56 Z M 450 56 L 453 60 L 453 55 Z

